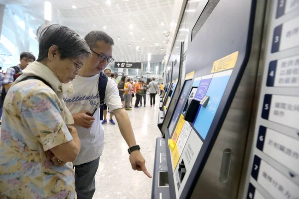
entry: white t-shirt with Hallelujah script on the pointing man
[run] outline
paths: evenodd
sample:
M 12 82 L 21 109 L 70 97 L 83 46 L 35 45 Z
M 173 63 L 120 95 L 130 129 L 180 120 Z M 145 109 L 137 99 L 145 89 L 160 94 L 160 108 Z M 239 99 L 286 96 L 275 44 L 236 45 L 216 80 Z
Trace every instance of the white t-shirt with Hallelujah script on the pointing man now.
M 81 140 L 81 149 L 73 165 L 81 165 L 100 157 L 104 148 L 104 129 L 99 119 L 99 75 L 88 78 L 77 75 L 71 83 L 74 88 L 74 94 L 65 98 L 64 101 L 72 114 L 76 114 L 82 110 L 93 112 L 98 104 L 98 109 L 95 113 L 97 119 L 91 128 L 86 129 L 74 125 Z M 123 108 L 119 90 L 115 81 L 111 78 L 108 78 L 106 86 L 105 103 L 111 111 Z

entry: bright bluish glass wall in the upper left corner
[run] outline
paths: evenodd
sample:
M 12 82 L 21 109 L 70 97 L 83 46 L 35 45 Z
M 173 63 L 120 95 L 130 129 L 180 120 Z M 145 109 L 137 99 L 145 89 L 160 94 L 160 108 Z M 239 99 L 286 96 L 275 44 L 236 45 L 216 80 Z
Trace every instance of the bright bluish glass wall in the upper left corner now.
M 5 6 L 0 35 L 0 66 L 5 72 L 7 68 L 19 64 L 21 52 L 30 52 L 36 58 L 38 55 L 38 42 L 36 29 L 43 23 L 28 14 L 28 10 L 20 5 Z M 28 22 L 30 19 L 30 23 Z M 33 21 L 33 22 L 32 22 Z

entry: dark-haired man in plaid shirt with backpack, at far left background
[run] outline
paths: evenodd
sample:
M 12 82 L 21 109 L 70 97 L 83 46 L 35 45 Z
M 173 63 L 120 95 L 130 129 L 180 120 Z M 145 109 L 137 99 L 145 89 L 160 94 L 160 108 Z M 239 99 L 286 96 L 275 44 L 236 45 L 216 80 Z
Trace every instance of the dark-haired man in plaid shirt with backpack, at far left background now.
M 8 68 L 5 73 L 5 77 L 3 79 L 3 85 L 6 90 L 6 93 L 11 87 L 12 83 L 16 80 L 16 78 L 22 74 L 22 70 L 24 70 L 29 63 L 32 63 L 34 61 L 35 61 L 35 57 L 31 53 L 22 52 L 20 54 L 20 63 L 14 67 Z

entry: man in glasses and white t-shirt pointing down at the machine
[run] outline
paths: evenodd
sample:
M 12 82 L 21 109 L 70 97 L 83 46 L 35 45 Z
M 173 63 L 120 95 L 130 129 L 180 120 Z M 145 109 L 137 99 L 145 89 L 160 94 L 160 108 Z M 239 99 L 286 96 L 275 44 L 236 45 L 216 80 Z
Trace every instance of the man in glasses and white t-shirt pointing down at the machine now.
M 91 31 L 84 39 L 92 51 L 92 56 L 85 59 L 83 69 L 72 81 L 74 95 L 68 96 L 64 101 L 73 114 L 74 127 L 81 140 L 80 153 L 73 162 L 77 196 L 78 199 L 92 199 L 95 192 L 95 175 L 104 147 L 104 129 L 97 117 L 99 110 L 95 112 L 94 117 L 91 113 L 100 102 L 99 74 L 108 63 L 114 61 L 112 58 L 114 41 L 103 31 Z M 151 178 L 145 166 L 146 161 L 139 151 L 140 147 L 136 144 L 131 122 L 119 97 L 117 85 L 111 78 L 108 78 L 106 86 L 105 103 L 113 111 L 121 134 L 129 146 L 132 169 L 143 171 Z

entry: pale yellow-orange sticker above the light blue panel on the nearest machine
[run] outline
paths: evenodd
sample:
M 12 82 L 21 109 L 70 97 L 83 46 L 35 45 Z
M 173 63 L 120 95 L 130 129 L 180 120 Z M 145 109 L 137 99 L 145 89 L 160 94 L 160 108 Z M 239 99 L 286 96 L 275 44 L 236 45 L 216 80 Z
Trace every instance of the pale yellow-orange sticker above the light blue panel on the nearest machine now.
M 237 59 L 238 59 L 239 51 L 234 52 L 228 56 L 225 56 L 221 59 L 218 59 L 213 63 L 213 68 L 211 73 L 216 73 L 219 71 L 224 71 L 227 69 L 232 69 L 235 67 Z

